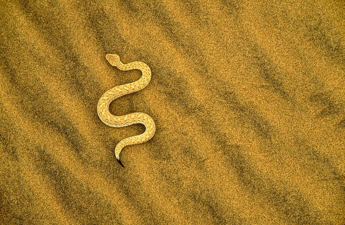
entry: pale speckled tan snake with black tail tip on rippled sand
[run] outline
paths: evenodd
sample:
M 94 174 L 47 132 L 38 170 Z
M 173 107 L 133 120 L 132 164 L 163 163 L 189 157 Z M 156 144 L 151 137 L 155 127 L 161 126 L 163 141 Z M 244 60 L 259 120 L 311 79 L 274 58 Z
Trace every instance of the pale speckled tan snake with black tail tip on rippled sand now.
M 124 116 L 114 116 L 109 112 L 109 105 L 112 101 L 121 96 L 137 92 L 138 90 L 146 87 L 151 79 L 151 69 L 143 62 L 131 62 L 123 64 L 120 61 L 120 57 L 116 54 L 107 54 L 106 59 L 112 66 L 116 66 L 122 71 L 139 69 L 142 73 L 142 76 L 137 81 L 119 85 L 105 92 L 98 100 L 97 104 L 98 117 L 103 123 L 110 127 L 125 127 L 132 124 L 143 124 L 145 126 L 145 132 L 141 135 L 125 138 L 116 145 L 116 159 L 120 165 L 124 167 L 120 161 L 121 150 L 128 145 L 139 144 L 150 140 L 155 134 L 156 125 L 154 120 L 149 115 L 142 112 L 134 112 Z

